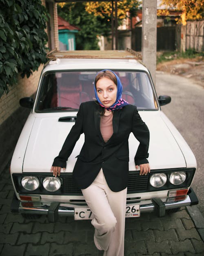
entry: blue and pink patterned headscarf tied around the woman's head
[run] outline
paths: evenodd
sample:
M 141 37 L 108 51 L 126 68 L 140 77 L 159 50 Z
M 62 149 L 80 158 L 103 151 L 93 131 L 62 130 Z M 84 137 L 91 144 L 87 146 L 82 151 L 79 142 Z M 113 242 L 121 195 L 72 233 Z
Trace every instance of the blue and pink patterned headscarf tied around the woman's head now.
M 124 106 L 129 105 L 129 103 L 126 102 L 126 100 L 122 99 L 122 84 L 120 82 L 120 78 L 112 70 L 109 70 L 109 69 L 104 69 L 104 70 L 101 70 L 100 72 L 104 72 L 104 71 L 111 71 L 115 75 L 115 77 L 117 79 L 117 84 L 116 84 L 117 85 L 117 95 L 116 95 L 115 103 L 112 106 L 105 107 L 99 100 L 99 97 L 98 97 L 98 94 L 96 91 L 96 85 L 94 84 L 95 97 L 96 97 L 96 100 L 99 102 L 100 106 L 104 107 L 107 110 L 114 111 L 116 109 L 122 109 Z M 98 73 L 100 73 L 100 72 L 98 72 Z M 97 73 L 97 75 L 98 75 L 98 73 Z

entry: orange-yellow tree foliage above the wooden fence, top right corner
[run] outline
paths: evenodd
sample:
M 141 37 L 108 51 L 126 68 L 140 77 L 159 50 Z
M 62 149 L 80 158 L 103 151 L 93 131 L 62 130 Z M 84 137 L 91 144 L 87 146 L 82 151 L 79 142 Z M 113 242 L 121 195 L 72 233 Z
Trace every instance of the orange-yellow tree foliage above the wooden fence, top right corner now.
M 196 20 L 204 18 L 204 2 L 203 0 L 162 0 L 162 5 L 168 7 L 177 8 L 183 11 L 179 22 L 185 25 L 186 20 Z M 168 12 L 166 12 L 168 15 Z

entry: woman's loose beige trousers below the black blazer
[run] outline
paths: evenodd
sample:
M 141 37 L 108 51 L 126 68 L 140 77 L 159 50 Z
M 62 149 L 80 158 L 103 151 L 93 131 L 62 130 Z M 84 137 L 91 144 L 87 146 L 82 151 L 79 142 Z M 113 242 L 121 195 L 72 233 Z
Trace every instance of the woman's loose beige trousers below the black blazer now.
M 124 256 L 124 229 L 127 188 L 113 192 L 102 169 L 93 183 L 82 193 L 94 214 L 91 224 L 95 239 L 104 250 L 103 256 Z

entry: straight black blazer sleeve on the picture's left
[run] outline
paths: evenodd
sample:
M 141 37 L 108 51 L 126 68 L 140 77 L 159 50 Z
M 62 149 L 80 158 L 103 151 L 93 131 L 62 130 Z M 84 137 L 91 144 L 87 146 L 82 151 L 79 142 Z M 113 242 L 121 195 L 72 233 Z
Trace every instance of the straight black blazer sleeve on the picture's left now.
M 80 135 L 83 133 L 83 110 L 82 104 L 80 105 L 79 111 L 77 113 L 77 118 L 75 121 L 75 125 L 71 128 L 62 149 L 58 156 L 55 157 L 53 161 L 53 166 L 60 166 L 62 168 L 66 168 L 67 159 L 71 155 L 73 148 L 79 139 Z

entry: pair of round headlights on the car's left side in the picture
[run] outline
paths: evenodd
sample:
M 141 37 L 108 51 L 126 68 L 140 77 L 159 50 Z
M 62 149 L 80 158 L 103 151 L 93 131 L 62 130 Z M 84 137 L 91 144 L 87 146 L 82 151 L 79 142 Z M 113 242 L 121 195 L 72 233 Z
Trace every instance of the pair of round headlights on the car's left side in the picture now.
M 40 187 L 40 180 L 38 177 L 25 176 L 21 180 L 21 185 L 24 189 L 33 191 Z M 42 181 L 42 186 L 49 192 L 55 192 L 60 189 L 61 181 L 58 177 L 45 177 Z

